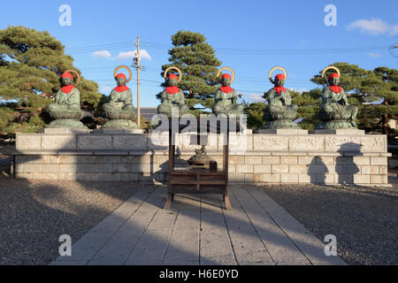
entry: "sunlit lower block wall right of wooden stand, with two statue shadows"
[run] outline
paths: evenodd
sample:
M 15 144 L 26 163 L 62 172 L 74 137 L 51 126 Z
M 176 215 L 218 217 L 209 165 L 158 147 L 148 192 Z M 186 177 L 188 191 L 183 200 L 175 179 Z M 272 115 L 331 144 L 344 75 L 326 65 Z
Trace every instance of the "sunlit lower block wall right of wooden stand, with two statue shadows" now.
M 262 159 L 262 160 L 261 160 Z M 244 161 L 244 164 L 241 162 Z M 270 155 L 231 157 L 232 182 L 269 184 L 387 184 L 387 157 Z

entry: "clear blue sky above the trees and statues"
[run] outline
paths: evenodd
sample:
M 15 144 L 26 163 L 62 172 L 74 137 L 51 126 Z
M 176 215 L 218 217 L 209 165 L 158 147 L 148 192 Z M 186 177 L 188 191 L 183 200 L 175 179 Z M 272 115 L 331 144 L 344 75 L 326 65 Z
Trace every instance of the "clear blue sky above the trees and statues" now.
M 247 101 L 257 101 L 272 88 L 267 76 L 276 65 L 287 69 L 287 88 L 310 90 L 316 87 L 310 78 L 334 62 L 365 69 L 381 65 L 396 68 L 398 64 L 387 50 L 398 44 L 398 2 L 392 0 L 63 0 L 21 1 L 22 4 L 24 9 L 15 9 L 10 1 L 2 3 L 2 10 L 7 12 L 0 17 L 0 28 L 21 25 L 49 31 L 65 45 L 66 53 L 74 57 L 74 65 L 83 76 L 96 80 L 100 92 L 106 95 L 115 85 L 113 69 L 132 65 L 131 51 L 140 35 L 142 49 L 150 57 L 142 59 L 147 70 L 141 75 L 142 107 L 158 104 L 155 96 L 161 90 L 158 82 L 163 81 L 161 65 L 168 62 L 171 35 L 180 29 L 206 36 L 222 65 L 235 71 L 233 88 Z M 70 27 L 58 24 L 62 4 L 72 8 Z M 337 26 L 325 26 L 326 4 L 335 5 Z M 119 42 L 126 43 L 110 45 Z M 339 53 L 328 54 L 325 49 Z M 356 52 L 346 52 L 349 49 Z M 311 54 L 298 54 L 300 51 L 295 50 L 310 50 Z M 94 56 L 96 51 L 103 51 L 99 53 L 103 57 Z M 136 105 L 134 80 L 128 86 L 133 89 Z

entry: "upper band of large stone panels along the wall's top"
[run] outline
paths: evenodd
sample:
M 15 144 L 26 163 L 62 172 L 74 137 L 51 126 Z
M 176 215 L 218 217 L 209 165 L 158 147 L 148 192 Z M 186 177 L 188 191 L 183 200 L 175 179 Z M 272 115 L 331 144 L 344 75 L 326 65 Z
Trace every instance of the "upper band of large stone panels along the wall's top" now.
M 181 134 L 177 146 L 181 151 L 194 151 L 197 146 L 190 145 L 187 135 Z M 152 152 L 168 149 L 167 134 L 152 140 L 151 134 L 17 134 L 16 149 L 19 151 L 56 152 Z M 156 135 L 154 136 L 156 137 Z M 223 139 L 210 138 L 208 152 L 221 152 Z M 234 155 L 296 155 L 314 154 L 356 155 L 364 153 L 387 153 L 385 134 L 231 134 L 230 153 Z M 108 153 L 109 152 L 109 153 Z

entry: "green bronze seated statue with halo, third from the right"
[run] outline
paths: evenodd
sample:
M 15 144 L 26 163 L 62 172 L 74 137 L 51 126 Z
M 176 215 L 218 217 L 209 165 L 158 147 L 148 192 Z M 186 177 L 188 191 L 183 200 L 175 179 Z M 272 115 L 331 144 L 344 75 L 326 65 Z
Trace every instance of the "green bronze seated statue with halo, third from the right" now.
M 231 88 L 231 83 L 235 78 L 235 73 L 233 72 L 233 69 L 224 67 L 218 71 L 217 77 L 219 77 L 223 70 L 229 70 L 233 76 L 231 77 L 229 73 L 223 73 L 221 75 L 221 88 L 218 88 L 214 94 L 213 113 L 217 116 L 239 116 L 243 113 L 243 106 L 238 103 L 238 94 L 233 88 Z

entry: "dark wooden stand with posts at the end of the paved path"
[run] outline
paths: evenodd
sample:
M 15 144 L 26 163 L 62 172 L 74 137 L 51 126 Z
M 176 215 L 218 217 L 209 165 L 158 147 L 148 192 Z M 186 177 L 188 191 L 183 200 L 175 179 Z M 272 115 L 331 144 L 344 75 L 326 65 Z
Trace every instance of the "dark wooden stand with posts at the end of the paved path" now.
M 172 131 L 169 127 L 169 182 L 167 201 L 165 210 L 170 209 L 174 194 L 221 194 L 226 203 L 226 210 L 231 210 L 231 203 L 228 196 L 228 146 L 229 146 L 229 126 L 225 133 L 220 128 L 207 127 L 207 133 L 200 133 L 198 126 L 197 133 L 222 134 L 226 139 L 223 145 L 223 170 L 212 171 L 210 169 L 194 170 L 191 167 L 176 168 L 175 167 L 175 135 L 177 129 Z M 203 127 L 202 127 L 203 128 Z M 178 134 L 183 133 L 183 128 L 179 128 Z M 211 166 L 212 167 L 212 166 Z

